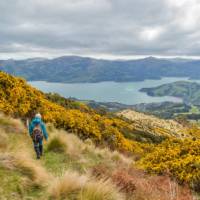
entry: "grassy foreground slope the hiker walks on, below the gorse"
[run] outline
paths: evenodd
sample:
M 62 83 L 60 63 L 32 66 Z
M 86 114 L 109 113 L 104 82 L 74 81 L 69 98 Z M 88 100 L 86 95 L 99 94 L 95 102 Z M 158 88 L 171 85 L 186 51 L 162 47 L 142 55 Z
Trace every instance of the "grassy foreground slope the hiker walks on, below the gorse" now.
M 192 199 L 187 187 L 135 169 L 131 157 L 51 126 L 48 130 L 45 156 L 35 160 L 23 124 L 0 115 L 0 199 Z

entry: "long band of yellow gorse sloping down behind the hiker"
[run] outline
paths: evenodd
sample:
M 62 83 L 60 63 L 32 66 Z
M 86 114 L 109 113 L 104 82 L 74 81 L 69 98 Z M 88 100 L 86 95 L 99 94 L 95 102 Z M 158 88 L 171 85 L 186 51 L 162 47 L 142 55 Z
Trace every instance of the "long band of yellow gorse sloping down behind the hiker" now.
M 21 118 L 29 118 L 41 112 L 46 122 L 53 123 L 77 134 L 82 139 L 91 138 L 97 145 L 108 145 L 112 149 L 120 149 L 141 153 L 150 141 L 156 139 L 151 135 L 140 136 L 133 124 L 117 117 L 100 115 L 85 105 L 75 107 L 74 102 L 68 104 L 62 98 L 49 100 L 42 92 L 32 88 L 23 79 L 12 77 L 0 72 L 0 110 L 4 113 Z M 129 139 L 128 139 L 129 138 Z M 131 139 L 131 140 L 130 140 Z M 132 140 L 133 139 L 133 140 Z M 153 140 L 152 140 L 153 139 Z M 135 140 L 135 141 L 134 141 Z

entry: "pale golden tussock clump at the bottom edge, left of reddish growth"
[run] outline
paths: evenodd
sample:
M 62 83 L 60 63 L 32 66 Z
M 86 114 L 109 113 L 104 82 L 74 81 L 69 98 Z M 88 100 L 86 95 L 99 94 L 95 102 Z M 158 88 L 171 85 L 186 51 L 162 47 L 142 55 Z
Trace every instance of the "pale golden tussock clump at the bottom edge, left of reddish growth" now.
M 50 199 L 67 200 L 123 200 L 123 196 L 109 180 L 94 180 L 86 175 L 67 171 L 52 183 Z

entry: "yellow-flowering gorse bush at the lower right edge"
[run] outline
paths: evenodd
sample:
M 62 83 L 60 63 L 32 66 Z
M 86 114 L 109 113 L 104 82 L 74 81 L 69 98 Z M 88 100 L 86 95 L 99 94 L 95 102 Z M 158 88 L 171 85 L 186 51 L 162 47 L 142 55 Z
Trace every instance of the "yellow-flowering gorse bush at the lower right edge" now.
M 146 154 L 138 165 L 148 172 L 167 173 L 180 183 L 198 189 L 200 184 L 200 141 L 166 140 Z M 199 188 L 200 189 L 200 188 Z

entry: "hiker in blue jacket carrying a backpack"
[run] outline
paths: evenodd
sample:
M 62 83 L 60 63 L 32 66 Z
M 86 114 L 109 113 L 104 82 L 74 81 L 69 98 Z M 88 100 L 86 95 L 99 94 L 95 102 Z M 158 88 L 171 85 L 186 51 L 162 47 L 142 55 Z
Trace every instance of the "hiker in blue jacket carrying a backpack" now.
M 43 136 L 48 140 L 48 133 L 40 113 L 37 113 L 32 120 L 29 126 L 29 134 L 33 139 L 37 159 L 40 159 L 43 153 Z

